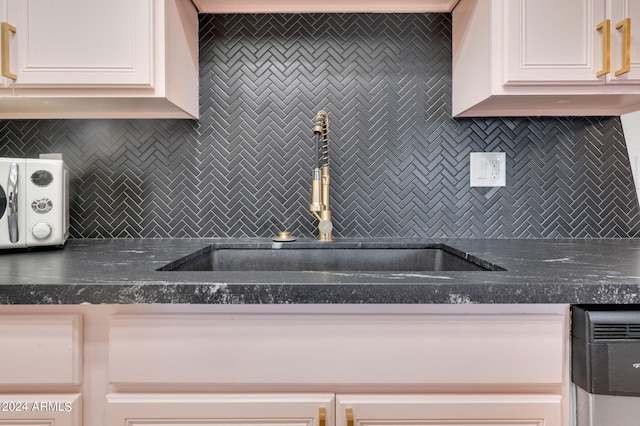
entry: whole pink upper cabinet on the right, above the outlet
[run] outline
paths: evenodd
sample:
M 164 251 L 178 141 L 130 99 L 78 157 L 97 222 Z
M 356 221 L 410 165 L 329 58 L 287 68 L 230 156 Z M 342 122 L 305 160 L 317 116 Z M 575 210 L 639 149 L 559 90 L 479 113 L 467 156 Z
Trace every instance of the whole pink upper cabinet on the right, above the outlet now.
M 634 0 L 462 0 L 453 12 L 453 115 L 639 110 L 634 22 Z

